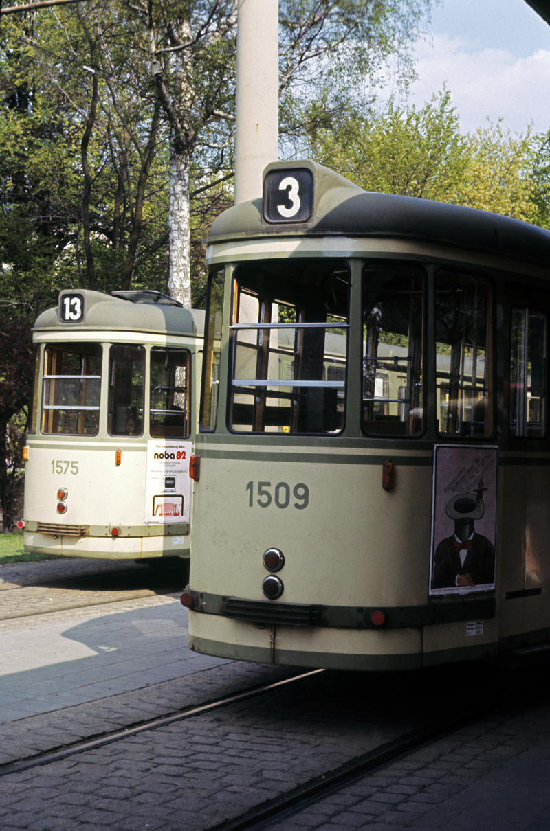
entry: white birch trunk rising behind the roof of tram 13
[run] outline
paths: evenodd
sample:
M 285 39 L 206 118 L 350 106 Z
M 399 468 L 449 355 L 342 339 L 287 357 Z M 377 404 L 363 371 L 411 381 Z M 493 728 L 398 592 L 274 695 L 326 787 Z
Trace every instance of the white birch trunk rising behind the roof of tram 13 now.
M 170 153 L 170 274 L 171 297 L 191 308 L 191 159 L 178 153 L 171 141 Z

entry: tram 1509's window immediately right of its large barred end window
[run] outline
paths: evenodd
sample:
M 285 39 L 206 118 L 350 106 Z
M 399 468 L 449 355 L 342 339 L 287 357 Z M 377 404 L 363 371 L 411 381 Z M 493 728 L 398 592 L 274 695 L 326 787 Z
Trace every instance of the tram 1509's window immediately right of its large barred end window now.
M 369 265 L 363 276 L 363 429 L 424 430 L 424 271 Z

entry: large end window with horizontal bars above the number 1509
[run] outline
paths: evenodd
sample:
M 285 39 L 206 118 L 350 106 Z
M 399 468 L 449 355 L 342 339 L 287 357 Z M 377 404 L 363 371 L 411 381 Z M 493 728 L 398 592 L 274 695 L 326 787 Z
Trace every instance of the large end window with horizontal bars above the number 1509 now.
M 236 270 L 231 430 L 343 430 L 348 295 L 343 263 L 275 260 Z

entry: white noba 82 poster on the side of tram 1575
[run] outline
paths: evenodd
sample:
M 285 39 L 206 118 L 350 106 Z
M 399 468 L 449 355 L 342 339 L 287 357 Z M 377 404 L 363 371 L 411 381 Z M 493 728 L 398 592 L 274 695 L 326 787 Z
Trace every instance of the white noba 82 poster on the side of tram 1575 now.
M 191 441 L 151 439 L 147 442 L 145 521 L 190 521 Z

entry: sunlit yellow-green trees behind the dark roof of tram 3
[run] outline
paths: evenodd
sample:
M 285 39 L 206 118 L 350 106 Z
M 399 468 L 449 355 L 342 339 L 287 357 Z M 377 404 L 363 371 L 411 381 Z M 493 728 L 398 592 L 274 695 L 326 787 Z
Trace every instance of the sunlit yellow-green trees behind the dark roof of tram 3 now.
M 342 125 L 313 130 L 311 155 L 365 190 L 467 205 L 536 224 L 548 223 L 548 142 L 511 135 L 500 123 L 460 132 L 450 93 L 421 110 L 394 106 L 351 113 Z

